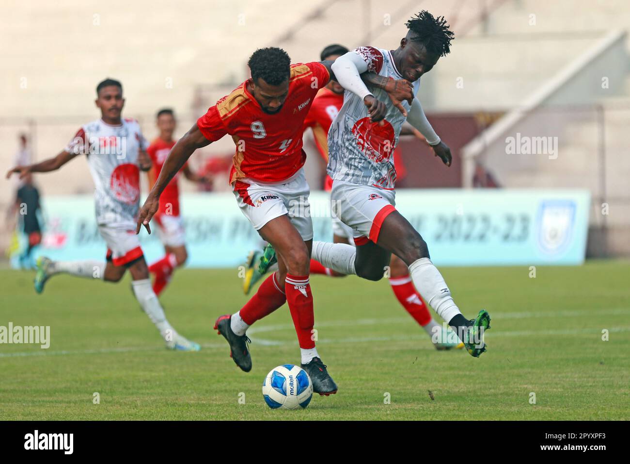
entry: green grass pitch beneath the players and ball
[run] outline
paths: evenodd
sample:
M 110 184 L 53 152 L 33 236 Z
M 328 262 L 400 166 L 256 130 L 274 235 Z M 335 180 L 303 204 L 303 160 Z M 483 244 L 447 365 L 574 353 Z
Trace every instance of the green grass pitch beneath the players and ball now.
M 198 353 L 163 348 L 129 277 L 58 276 L 37 295 L 33 272 L 3 270 L 0 325 L 50 326 L 51 342 L 0 345 L 0 419 L 630 418 L 627 261 L 537 266 L 536 278 L 529 266 L 442 273 L 464 315 L 490 312 L 488 352 L 434 350 L 386 280 L 314 276 L 318 349 L 339 391 L 288 411 L 270 410 L 261 395 L 270 369 L 299 363 L 288 307 L 250 329 L 249 373 L 212 330 L 246 302 L 236 269 L 177 271 L 161 297 L 173 326 L 202 344 Z

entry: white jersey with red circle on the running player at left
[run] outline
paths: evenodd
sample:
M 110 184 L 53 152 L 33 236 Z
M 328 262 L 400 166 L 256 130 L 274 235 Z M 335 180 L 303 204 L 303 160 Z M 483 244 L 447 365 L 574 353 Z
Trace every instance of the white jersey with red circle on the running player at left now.
M 84 154 L 94 180 L 96 222 L 135 228 L 140 207 L 138 152 L 149 144 L 135 119 L 111 126 L 102 119 L 81 126 L 66 152 Z

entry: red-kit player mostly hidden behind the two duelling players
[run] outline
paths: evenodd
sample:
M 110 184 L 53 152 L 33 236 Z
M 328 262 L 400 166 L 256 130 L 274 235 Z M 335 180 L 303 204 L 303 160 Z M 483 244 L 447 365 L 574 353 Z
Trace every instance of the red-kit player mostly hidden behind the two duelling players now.
M 343 47 L 343 45 L 328 45 L 328 47 L 325 47 L 321 52 L 321 60 L 335 61 L 338 57 L 346 53 L 348 53 L 348 49 Z M 328 85 L 319 90 L 313 100 L 309 114 L 306 116 L 306 119 L 304 119 L 304 130 L 306 131 L 307 128 L 312 128 L 319 154 L 326 164 L 328 164 L 328 129 L 343 105 L 343 92 L 345 92 L 345 89 L 339 85 L 338 82 L 330 81 Z M 425 141 L 420 131 L 411 126 L 411 124 L 403 125 L 401 135 L 415 135 L 420 140 Z M 394 149 L 394 165 L 396 167 L 397 178 L 401 179 L 404 177 L 404 166 L 398 147 Z M 332 179 L 326 174 L 324 190 L 330 191 L 332 185 Z M 333 242 L 354 244 L 352 229 L 336 218 L 334 213 L 332 220 Z M 250 256 L 252 256 L 252 254 L 250 254 Z M 251 273 L 251 278 L 248 281 L 250 288 L 251 285 L 266 272 L 265 264 L 273 263 L 272 256 L 272 247 L 265 247 L 262 253 L 264 259 L 261 261 L 261 265 Z M 253 268 L 255 268 L 255 266 L 253 266 Z M 311 259 L 310 272 L 311 274 L 324 274 L 331 277 L 345 276 L 345 274 L 324 267 L 314 259 Z M 442 331 L 442 326 L 433 319 L 427 304 L 425 304 L 421 295 L 413 285 L 413 282 L 411 282 L 409 268 L 404 264 L 402 259 L 394 254 L 392 254 L 389 263 L 389 283 L 394 295 L 396 295 L 396 299 L 398 299 L 399 303 L 406 309 L 411 317 L 427 332 L 427 335 L 432 339 L 433 346 L 437 350 L 450 350 L 451 348 L 464 347 L 464 343 L 459 342 L 459 340 L 451 342 L 450 340 L 455 340 L 455 338 L 452 336 L 449 337 L 448 333 L 444 333 L 443 336 L 439 338 L 432 336 L 436 330 Z M 440 341 L 438 342 L 438 340 Z

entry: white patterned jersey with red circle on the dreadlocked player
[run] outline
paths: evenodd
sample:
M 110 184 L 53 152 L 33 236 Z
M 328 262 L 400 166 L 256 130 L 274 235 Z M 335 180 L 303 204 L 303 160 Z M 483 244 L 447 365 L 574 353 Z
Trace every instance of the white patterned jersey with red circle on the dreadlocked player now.
M 358 47 L 353 52 L 364 59 L 368 71 L 403 79 L 391 52 L 374 47 Z M 416 95 L 420 79 L 412 85 L 413 95 Z M 393 189 L 396 182 L 394 148 L 406 117 L 392 104 L 387 92 L 377 88 L 372 93 L 387 106 L 384 125 L 370 122 L 364 102 L 346 90 L 343 106 L 328 131 L 328 175 L 333 180 Z M 402 104 L 409 112 L 410 104 L 406 101 Z

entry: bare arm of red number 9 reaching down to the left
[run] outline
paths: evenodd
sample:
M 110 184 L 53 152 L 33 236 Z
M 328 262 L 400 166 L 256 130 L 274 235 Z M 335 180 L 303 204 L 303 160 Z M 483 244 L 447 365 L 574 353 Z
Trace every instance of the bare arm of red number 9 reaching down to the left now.
M 151 234 L 149 222 L 159 207 L 159 196 L 168 185 L 168 182 L 175 177 L 175 174 L 179 172 L 188 158 L 190 158 L 190 155 L 192 155 L 197 148 L 202 148 L 202 146 L 206 145 L 210 145 L 210 141 L 203 136 L 197 124 L 195 124 L 188 132 L 186 132 L 186 134 L 184 134 L 182 138 L 180 138 L 180 140 L 177 141 L 175 146 L 173 146 L 171 153 L 168 154 L 166 161 L 164 161 L 164 165 L 159 172 L 159 177 L 157 177 L 156 183 L 149 192 L 149 196 L 147 196 L 146 201 L 144 201 L 144 205 L 142 205 L 142 208 L 140 209 L 138 223 L 135 227 L 136 234 L 139 234 L 140 227 L 142 227 L 142 225 L 144 225 L 147 232 Z

